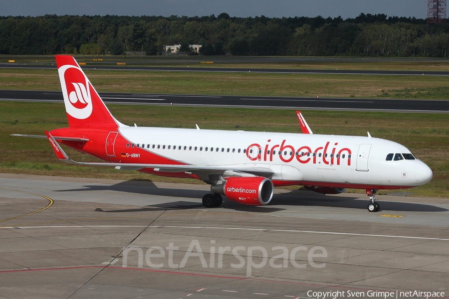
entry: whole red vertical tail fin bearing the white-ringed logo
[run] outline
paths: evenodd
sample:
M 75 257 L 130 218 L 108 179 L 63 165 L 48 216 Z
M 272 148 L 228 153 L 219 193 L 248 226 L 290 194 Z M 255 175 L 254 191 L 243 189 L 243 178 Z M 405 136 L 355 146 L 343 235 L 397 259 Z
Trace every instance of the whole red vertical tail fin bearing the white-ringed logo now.
M 120 126 L 75 59 L 68 55 L 55 57 L 69 127 L 117 128 Z

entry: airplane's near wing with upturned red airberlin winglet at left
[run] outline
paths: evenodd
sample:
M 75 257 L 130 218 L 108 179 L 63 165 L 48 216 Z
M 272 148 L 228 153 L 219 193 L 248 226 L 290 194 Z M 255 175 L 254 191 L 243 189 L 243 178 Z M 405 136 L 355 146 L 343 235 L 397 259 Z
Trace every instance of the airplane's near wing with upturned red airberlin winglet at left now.
M 238 165 L 212 165 L 212 166 L 198 166 L 198 165 L 177 165 L 177 164 L 146 164 L 146 163 L 110 163 L 110 162 L 78 162 L 70 159 L 64 150 L 56 142 L 55 137 L 51 136 L 48 131 L 45 131 L 47 138 L 56 153 L 59 160 L 66 163 L 73 163 L 79 165 L 96 165 L 96 166 L 114 166 L 117 169 L 137 170 L 142 168 L 154 168 L 155 171 L 160 172 L 187 172 L 187 173 L 217 173 L 225 172 L 226 170 L 240 171 L 251 173 L 259 176 L 270 176 L 274 173 L 273 170 L 263 167 L 245 167 Z

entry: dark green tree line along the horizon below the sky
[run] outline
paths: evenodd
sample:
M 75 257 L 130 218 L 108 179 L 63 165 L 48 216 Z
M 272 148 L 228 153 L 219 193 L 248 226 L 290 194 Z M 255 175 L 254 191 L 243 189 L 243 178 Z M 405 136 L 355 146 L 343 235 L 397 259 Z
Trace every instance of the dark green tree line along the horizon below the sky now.
M 165 54 L 203 45 L 204 55 L 448 57 L 449 24 L 415 17 L 4 16 L 0 54 Z M 193 52 L 191 54 L 194 54 Z

